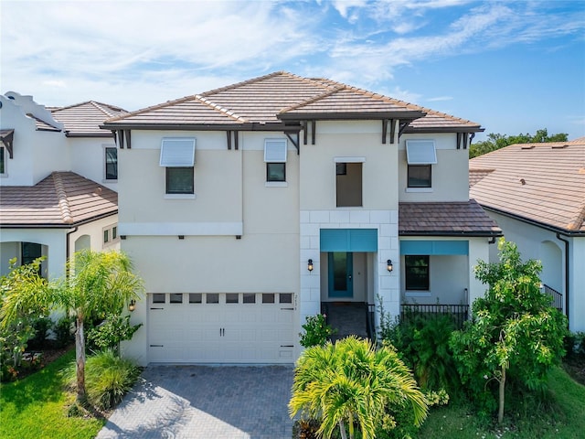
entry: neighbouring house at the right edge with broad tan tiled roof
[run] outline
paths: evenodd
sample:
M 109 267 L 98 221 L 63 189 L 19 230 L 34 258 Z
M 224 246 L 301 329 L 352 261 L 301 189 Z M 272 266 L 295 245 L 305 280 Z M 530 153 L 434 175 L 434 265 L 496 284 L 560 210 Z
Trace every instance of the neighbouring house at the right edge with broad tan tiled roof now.
M 585 331 L 585 137 L 506 146 L 469 167 L 472 198 L 523 259 L 542 262 L 543 288 L 570 330 Z

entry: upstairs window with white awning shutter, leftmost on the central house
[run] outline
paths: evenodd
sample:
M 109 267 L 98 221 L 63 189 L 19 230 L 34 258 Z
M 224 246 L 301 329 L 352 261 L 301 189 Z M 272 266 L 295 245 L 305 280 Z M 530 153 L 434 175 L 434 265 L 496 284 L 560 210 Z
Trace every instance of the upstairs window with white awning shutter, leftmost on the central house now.
M 196 140 L 193 137 L 163 139 L 159 164 L 166 168 L 166 194 L 195 194 L 195 145 Z

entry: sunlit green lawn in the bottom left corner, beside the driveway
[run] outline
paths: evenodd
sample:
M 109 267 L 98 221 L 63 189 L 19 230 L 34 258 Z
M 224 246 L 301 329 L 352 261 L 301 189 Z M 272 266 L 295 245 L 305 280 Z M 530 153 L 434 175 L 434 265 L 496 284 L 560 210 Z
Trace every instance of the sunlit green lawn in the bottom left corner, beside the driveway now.
M 0 387 L 0 437 L 3 439 L 90 439 L 104 420 L 69 418 L 75 394 L 64 391 L 59 371 L 75 359 L 75 352 L 50 363 L 24 380 Z

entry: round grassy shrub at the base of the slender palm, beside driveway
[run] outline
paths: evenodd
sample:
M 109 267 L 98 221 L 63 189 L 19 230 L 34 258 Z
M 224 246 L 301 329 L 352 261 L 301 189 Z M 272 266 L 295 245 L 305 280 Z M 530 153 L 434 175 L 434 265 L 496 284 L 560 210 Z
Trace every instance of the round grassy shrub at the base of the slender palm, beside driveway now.
M 75 362 L 66 371 L 71 387 L 77 383 Z M 130 359 L 121 359 L 113 349 L 88 357 L 85 364 L 85 387 L 90 404 L 108 410 L 122 401 L 140 375 L 140 368 Z

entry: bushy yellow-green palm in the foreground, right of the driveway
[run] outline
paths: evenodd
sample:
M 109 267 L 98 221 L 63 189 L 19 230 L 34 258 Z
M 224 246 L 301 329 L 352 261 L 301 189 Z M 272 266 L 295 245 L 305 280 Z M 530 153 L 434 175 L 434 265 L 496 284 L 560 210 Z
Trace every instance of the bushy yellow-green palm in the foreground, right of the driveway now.
M 297 363 L 291 416 L 297 412 L 321 421 L 318 434 L 329 438 L 335 428 L 354 438 L 355 424 L 363 439 L 374 438 L 388 414 L 388 403 L 412 406 L 420 425 L 427 415 L 424 396 L 392 348 L 378 350 L 367 340 L 346 337 L 335 344 L 308 348 Z

